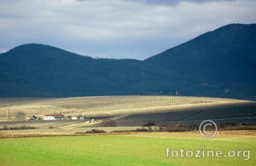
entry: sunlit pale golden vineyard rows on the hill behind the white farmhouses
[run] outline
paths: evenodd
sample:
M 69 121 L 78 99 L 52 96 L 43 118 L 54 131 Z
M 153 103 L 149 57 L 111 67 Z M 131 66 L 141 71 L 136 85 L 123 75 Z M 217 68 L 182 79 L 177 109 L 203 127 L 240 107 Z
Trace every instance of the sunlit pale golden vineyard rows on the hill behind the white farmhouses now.
M 15 119 L 15 113 L 39 118 L 47 113 L 65 116 L 117 116 L 133 113 L 184 111 L 250 105 L 256 102 L 212 97 L 181 96 L 103 96 L 67 98 L 1 98 L 0 119 Z

